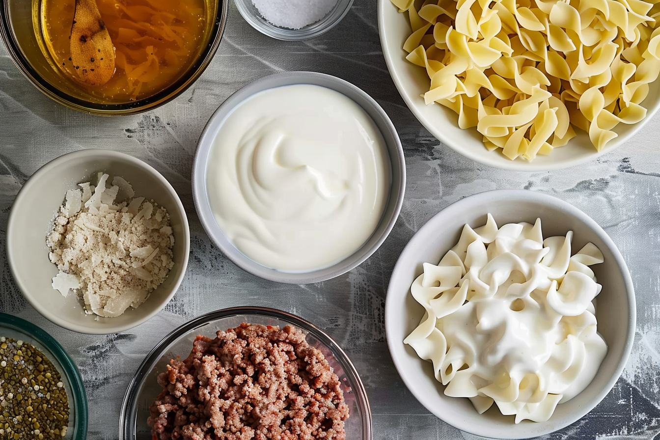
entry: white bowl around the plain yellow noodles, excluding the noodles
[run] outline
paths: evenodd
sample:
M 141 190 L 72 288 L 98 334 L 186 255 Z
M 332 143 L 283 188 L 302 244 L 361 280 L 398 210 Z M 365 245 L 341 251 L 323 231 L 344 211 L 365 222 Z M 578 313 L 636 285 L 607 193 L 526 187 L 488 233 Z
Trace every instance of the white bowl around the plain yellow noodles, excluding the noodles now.
M 642 106 L 648 110 L 646 117 L 636 124 L 617 125 L 614 131 L 618 133 L 618 137 L 601 151 L 596 151 L 587 133 L 577 130 L 578 136 L 566 146 L 554 149 L 547 156 L 539 155 L 532 162 L 522 158 L 510 160 L 498 151 L 486 150 L 481 141 L 482 136 L 477 133 L 476 128 L 460 129 L 457 123 L 458 116 L 452 110 L 439 104 L 430 106 L 424 104 L 424 98 L 420 95 L 428 91 L 430 80 L 425 69 L 405 59 L 407 52 L 403 50 L 403 43 L 410 36 L 411 27 L 407 13 L 399 13 L 390 0 L 378 0 L 378 31 L 392 80 L 415 117 L 443 144 L 481 164 L 504 170 L 527 172 L 559 170 L 583 164 L 626 142 L 660 108 L 660 84 L 655 81 L 649 84 L 649 94 L 642 102 Z

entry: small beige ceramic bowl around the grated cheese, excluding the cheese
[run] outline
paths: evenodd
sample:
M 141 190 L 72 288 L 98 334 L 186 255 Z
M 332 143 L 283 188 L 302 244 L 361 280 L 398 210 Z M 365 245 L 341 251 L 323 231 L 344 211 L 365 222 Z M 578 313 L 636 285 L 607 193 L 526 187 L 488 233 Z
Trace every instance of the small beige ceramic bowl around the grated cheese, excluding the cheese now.
M 75 295 L 64 298 L 51 286 L 57 267 L 48 259 L 46 234 L 68 189 L 96 181 L 103 171 L 126 179 L 135 195 L 153 199 L 170 214 L 174 267 L 166 280 L 136 309 L 116 318 L 86 315 Z M 16 285 L 39 313 L 53 323 L 81 333 L 108 334 L 139 325 L 170 301 L 185 274 L 190 249 L 188 220 L 176 191 L 145 162 L 113 150 L 79 150 L 51 160 L 37 170 L 16 196 L 7 225 L 7 259 Z

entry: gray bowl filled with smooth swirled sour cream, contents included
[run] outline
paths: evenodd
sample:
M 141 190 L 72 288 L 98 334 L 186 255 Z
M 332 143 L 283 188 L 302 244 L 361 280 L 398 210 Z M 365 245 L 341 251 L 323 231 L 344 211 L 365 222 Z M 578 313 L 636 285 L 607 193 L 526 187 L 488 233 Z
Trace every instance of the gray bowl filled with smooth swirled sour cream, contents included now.
M 405 160 L 385 111 L 329 75 L 271 75 L 230 96 L 197 146 L 209 237 L 261 278 L 304 284 L 372 255 L 401 210 Z

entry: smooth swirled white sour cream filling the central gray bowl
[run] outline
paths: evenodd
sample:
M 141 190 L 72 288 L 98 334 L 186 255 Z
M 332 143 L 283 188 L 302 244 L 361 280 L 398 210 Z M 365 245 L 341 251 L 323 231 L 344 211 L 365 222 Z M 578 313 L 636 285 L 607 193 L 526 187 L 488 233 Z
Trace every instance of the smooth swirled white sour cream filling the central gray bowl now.
M 253 261 L 284 272 L 329 267 L 378 226 L 391 164 L 378 127 L 329 88 L 295 84 L 251 96 L 213 141 L 209 203 Z

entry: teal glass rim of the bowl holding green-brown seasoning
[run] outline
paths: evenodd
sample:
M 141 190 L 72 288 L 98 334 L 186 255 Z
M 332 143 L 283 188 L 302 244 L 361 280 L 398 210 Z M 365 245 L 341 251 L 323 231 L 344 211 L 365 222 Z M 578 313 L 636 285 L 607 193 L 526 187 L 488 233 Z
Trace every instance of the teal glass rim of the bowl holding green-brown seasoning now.
M 81 373 L 75 362 L 71 359 L 71 356 L 69 356 L 59 342 L 57 342 L 57 340 L 50 336 L 46 331 L 24 319 L 13 315 L 7 315 L 7 313 L 0 313 L 0 328 L 1 327 L 27 334 L 44 346 L 55 357 L 55 360 L 61 367 L 60 372 L 66 376 L 67 381 L 69 381 L 69 387 L 73 393 L 75 422 L 73 425 L 73 431 L 71 432 L 71 440 L 86 439 L 89 417 L 87 393 L 84 389 Z M 71 411 L 71 404 L 69 404 L 69 411 Z

